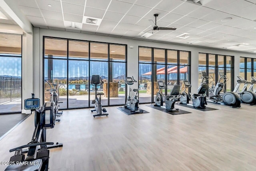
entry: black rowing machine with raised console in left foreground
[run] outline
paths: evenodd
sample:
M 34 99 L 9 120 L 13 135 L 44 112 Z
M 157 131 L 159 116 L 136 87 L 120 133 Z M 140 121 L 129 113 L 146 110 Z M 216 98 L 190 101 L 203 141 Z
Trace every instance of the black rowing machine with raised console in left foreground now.
M 48 171 L 48 149 L 63 146 L 62 143 L 54 145 L 52 142 L 46 142 L 46 129 L 54 128 L 55 125 L 54 112 L 48 112 L 54 111 L 54 102 L 48 101 L 48 105 L 40 109 L 40 99 L 34 98 L 34 94 L 24 102 L 24 109 L 34 113 L 35 130 L 30 143 L 10 149 L 10 152 L 15 151 L 15 154 L 10 158 L 12 164 L 6 167 L 5 171 Z M 22 150 L 27 147 L 28 149 Z M 26 159 L 24 153 L 28 153 Z

